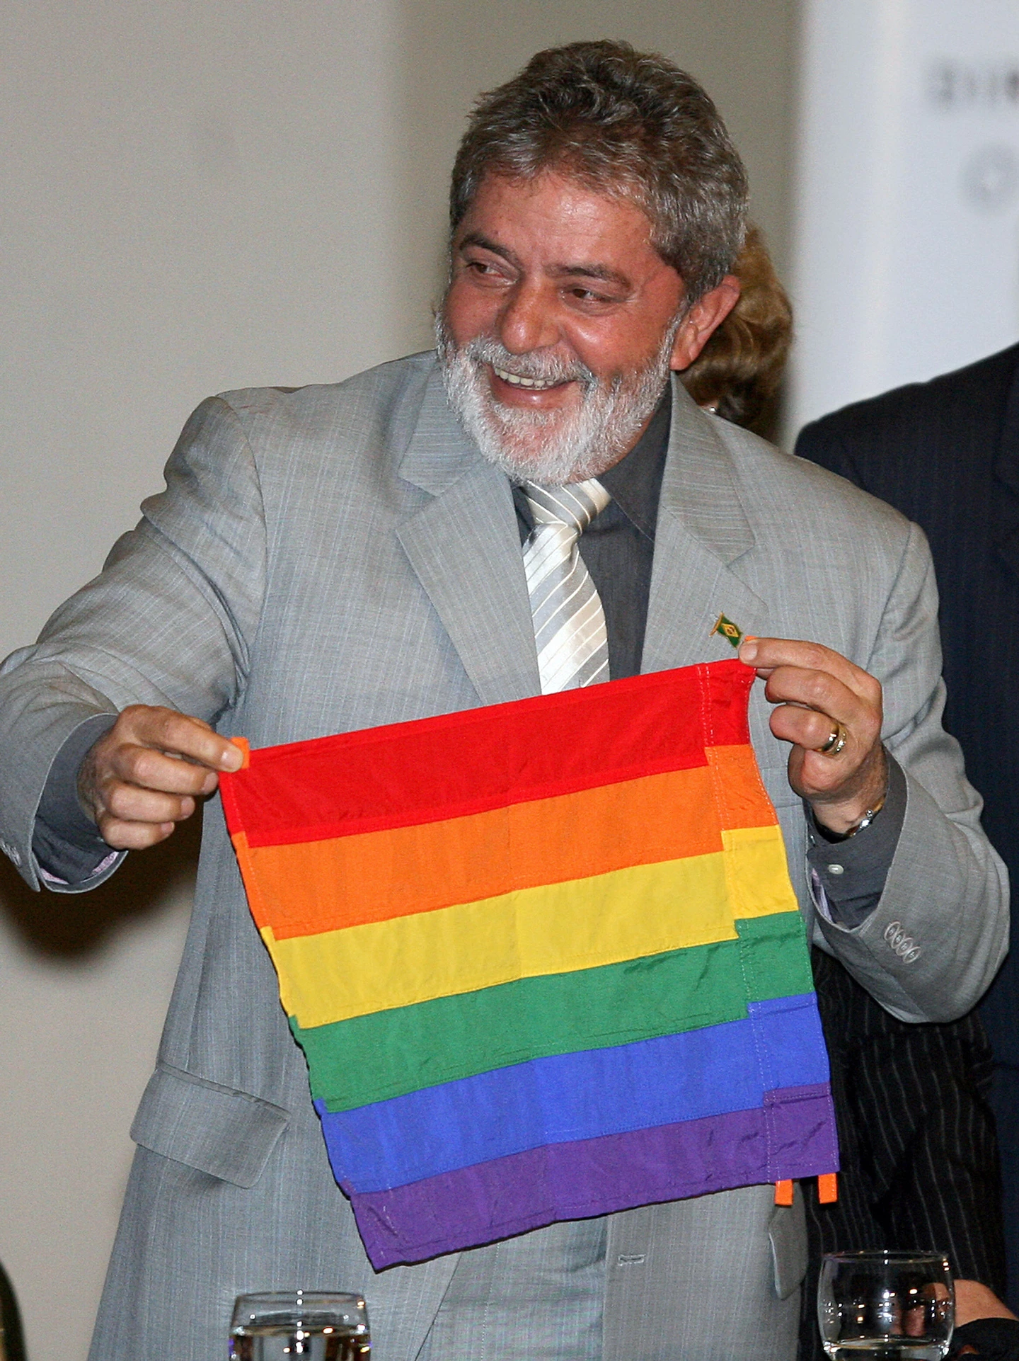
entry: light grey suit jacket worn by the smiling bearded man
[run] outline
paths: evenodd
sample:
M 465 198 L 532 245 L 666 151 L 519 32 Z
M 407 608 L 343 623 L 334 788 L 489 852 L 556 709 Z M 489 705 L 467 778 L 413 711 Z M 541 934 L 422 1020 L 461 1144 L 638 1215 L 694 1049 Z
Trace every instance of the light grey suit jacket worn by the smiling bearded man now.
M 97 713 L 165 704 L 264 746 L 539 691 L 509 483 L 460 430 L 431 355 L 337 387 L 211 399 L 184 430 L 167 491 L 143 510 L 102 576 L 0 679 L 0 841 L 33 885 L 46 773 Z M 676 385 L 644 670 L 731 656 L 712 632 L 724 612 L 748 633 L 827 644 L 884 683 L 909 802 L 882 901 L 853 931 L 814 912 L 803 811 L 761 686 L 751 728 L 808 923 L 907 1019 L 971 1007 L 1007 943 L 1004 871 L 939 723 L 936 608 L 916 527 L 702 414 Z M 916 949 L 897 953 L 903 935 Z M 415 1356 L 456 1258 L 369 1282 L 218 802 L 132 1134 L 97 1358 L 219 1354 L 210 1319 L 229 1317 L 237 1292 L 294 1283 L 363 1286 L 382 1361 Z M 668 1207 L 612 1217 L 607 1356 L 672 1289 L 669 1253 L 654 1252 L 671 1232 Z M 784 1293 L 790 1252 L 775 1248 Z M 616 1259 L 646 1264 L 639 1286 L 612 1275 Z

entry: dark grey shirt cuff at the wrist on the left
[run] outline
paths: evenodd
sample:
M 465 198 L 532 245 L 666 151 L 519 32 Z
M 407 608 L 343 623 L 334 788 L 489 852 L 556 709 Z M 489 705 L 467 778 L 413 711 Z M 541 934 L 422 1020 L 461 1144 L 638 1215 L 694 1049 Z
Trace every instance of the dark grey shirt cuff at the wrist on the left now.
M 49 768 L 31 837 L 39 874 L 49 883 L 84 883 L 118 855 L 78 802 L 82 761 L 116 721 L 116 713 L 97 713 L 79 723 Z

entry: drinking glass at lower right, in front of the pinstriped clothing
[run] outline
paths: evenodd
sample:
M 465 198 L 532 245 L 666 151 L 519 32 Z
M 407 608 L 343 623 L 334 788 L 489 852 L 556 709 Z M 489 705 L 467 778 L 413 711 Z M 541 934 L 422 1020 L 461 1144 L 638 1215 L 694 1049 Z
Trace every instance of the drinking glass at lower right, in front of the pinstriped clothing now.
M 940 1361 L 955 1324 L 941 1252 L 829 1252 L 818 1282 L 818 1326 L 833 1361 Z

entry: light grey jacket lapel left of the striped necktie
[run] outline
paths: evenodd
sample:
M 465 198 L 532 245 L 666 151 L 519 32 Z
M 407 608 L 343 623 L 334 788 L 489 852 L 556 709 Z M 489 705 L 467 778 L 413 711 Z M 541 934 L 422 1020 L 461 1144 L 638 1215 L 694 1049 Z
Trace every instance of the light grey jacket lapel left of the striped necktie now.
M 438 369 L 400 476 L 430 499 L 397 527 L 482 704 L 540 693 L 513 494 L 449 410 Z

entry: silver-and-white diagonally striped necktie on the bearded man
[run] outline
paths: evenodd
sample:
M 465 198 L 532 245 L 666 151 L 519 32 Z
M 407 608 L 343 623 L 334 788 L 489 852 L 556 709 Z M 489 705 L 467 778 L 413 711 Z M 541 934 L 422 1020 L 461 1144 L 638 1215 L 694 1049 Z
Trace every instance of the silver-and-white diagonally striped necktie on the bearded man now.
M 577 540 L 612 499 L 596 478 L 569 487 L 524 485 L 535 528 L 524 544 L 541 694 L 608 680 L 601 600 Z

